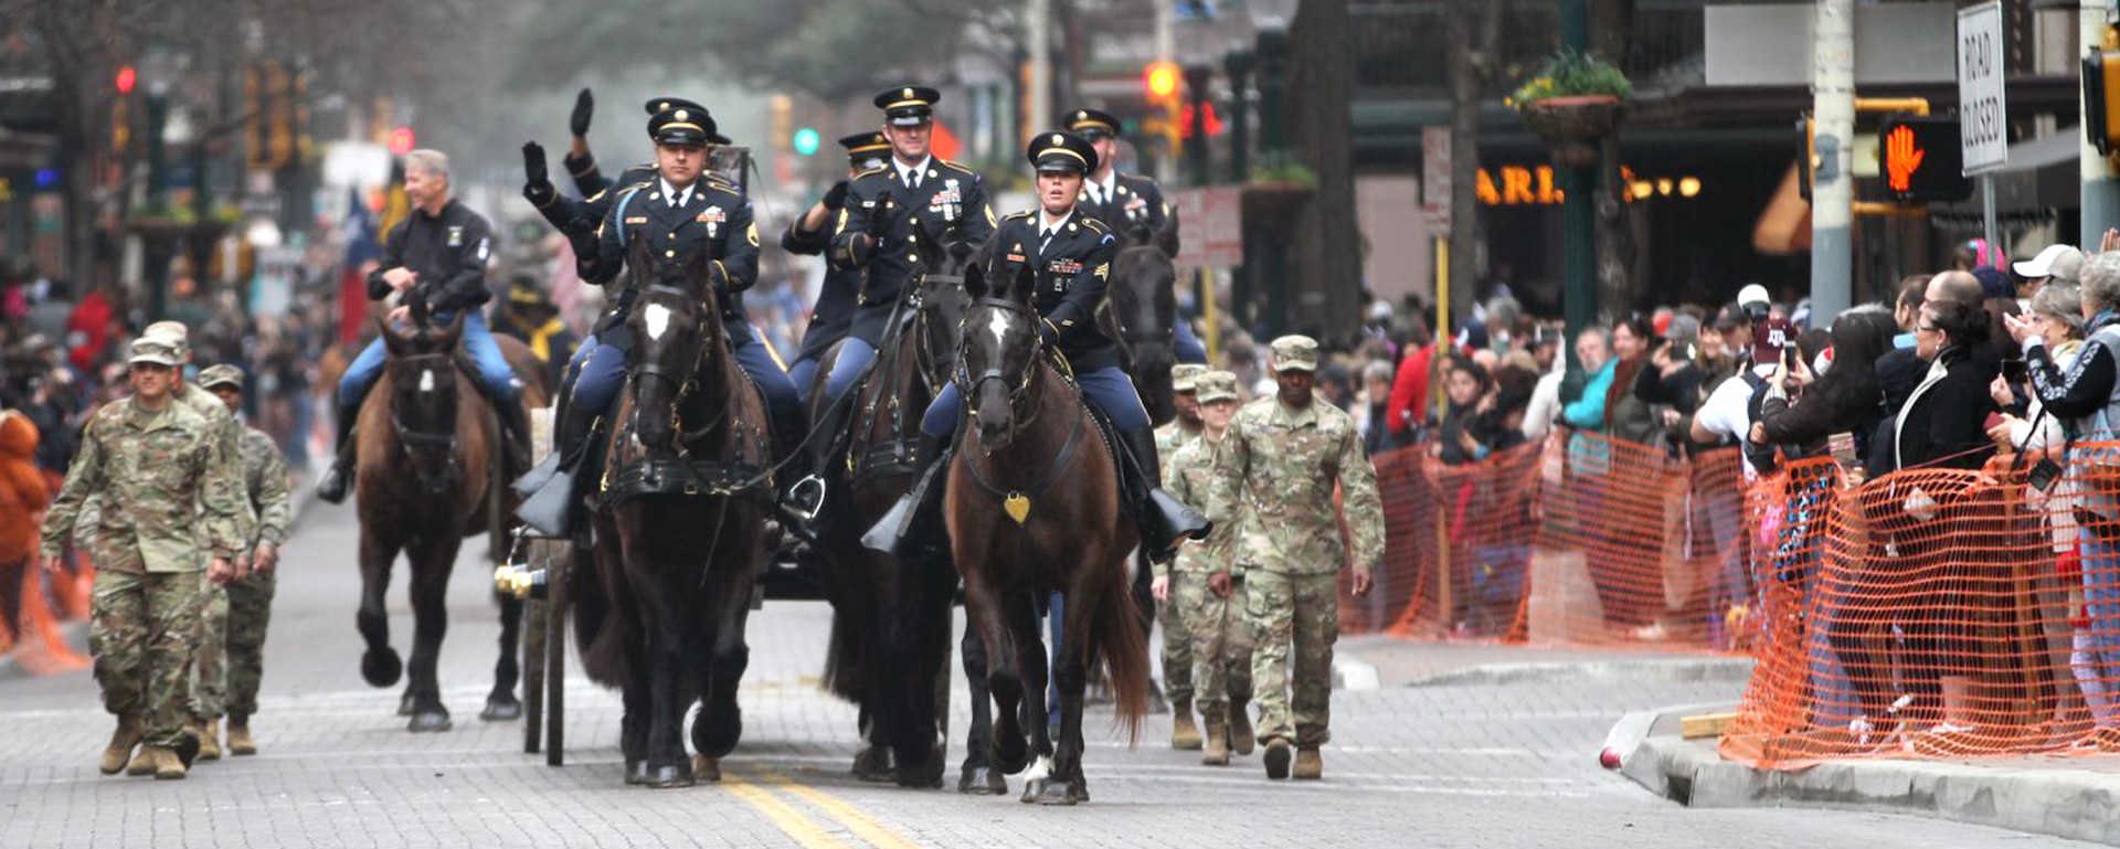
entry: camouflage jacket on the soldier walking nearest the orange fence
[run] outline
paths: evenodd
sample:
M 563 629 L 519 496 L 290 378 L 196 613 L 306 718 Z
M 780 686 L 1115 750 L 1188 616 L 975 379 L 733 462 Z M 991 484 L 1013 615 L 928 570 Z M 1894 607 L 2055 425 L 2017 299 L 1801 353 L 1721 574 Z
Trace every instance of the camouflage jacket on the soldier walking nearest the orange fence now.
M 1221 440 L 1208 517 L 1242 512 L 1236 565 L 1247 572 L 1331 574 L 1376 567 L 1384 557 L 1384 506 L 1361 432 L 1342 409 L 1312 400 L 1287 409 L 1266 396 L 1230 419 Z M 1333 508 L 1333 485 L 1342 510 Z M 1353 559 L 1340 542 L 1346 514 Z

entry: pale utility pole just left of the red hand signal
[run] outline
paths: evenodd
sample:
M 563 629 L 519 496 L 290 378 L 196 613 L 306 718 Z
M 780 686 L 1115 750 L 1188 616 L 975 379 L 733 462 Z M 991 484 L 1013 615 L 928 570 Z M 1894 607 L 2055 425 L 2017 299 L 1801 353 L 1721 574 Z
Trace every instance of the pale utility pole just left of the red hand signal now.
M 1853 305 L 1855 267 L 1855 0 L 1819 0 L 1810 53 L 1810 116 L 1817 171 L 1810 178 L 1810 324 L 1830 326 Z

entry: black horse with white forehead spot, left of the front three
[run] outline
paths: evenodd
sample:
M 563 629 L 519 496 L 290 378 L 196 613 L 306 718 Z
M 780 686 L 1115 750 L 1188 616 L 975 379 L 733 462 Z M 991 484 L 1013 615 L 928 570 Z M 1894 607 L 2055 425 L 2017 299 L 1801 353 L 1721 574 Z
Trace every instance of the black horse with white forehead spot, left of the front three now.
M 596 603 L 577 608 L 583 667 L 625 701 L 625 781 L 721 779 L 742 737 L 744 622 L 765 565 L 772 442 L 765 400 L 738 371 L 708 256 L 630 254 L 625 392 L 596 510 Z M 594 618 L 594 620 L 591 620 Z M 685 756 L 685 711 L 697 760 Z

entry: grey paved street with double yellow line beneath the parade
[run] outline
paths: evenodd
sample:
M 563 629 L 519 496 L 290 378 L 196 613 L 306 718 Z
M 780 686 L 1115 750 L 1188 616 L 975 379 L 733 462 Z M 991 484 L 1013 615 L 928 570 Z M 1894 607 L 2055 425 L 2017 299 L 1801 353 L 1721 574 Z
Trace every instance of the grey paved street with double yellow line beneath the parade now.
M 112 720 L 87 671 L 0 684 L 0 847 L 2071 845 L 1897 815 L 1677 807 L 1603 771 L 1598 747 L 1626 711 L 1726 701 L 1738 684 L 1598 671 L 1342 690 L 1314 783 L 1268 781 L 1257 756 L 1200 766 L 1168 747 L 1168 716 L 1128 747 L 1094 713 L 1083 807 L 871 785 L 848 775 L 854 709 L 816 686 L 829 612 L 782 601 L 750 618 L 746 733 L 725 779 L 638 790 L 621 783 L 617 699 L 587 680 L 568 682 L 566 766 L 524 754 L 519 724 L 477 720 L 498 635 L 477 544 L 458 561 L 441 658 L 456 728 L 407 733 L 399 694 L 358 673 L 356 540 L 352 508 L 316 504 L 288 544 L 254 758 L 187 781 L 102 777 Z M 401 565 L 401 650 L 405 584 Z M 967 709 L 958 688 L 954 728 Z

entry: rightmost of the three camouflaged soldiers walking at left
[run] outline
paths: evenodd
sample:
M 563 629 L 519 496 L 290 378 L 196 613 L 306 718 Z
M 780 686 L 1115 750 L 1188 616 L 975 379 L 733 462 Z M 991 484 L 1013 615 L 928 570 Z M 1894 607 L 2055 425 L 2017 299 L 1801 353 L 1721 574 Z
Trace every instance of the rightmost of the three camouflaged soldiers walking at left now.
M 212 366 L 199 373 L 199 387 L 212 392 L 235 413 L 244 404 L 244 371 L 235 366 Z M 244 493 L 257 512 L 257 534 L 250 538 L 250 576 L 229 584 L 227 597 L 227 701 L 229 754 L 257 754 L 250 737 L 250 713 L 259 709 L 259 680 L 265 673 L 265 625 L 271 622 L 273 574 L 280 565 L 280 544 L 286 540 L 286 525 L 293 517 L 293 502 L 286 489 L 286 459 L 280 447 L 263 430 L 244 428 L 237 445 L 237 462 L 244 476 Z M 210 648 L 201 648 L 201 654 Z M 201 665 L 204 669 L 204 665 Z M 206 739 L 220 730 L 220 718 L 206 720 Z M 201 745 L 204 754 L 204 745 Z

